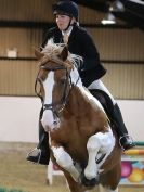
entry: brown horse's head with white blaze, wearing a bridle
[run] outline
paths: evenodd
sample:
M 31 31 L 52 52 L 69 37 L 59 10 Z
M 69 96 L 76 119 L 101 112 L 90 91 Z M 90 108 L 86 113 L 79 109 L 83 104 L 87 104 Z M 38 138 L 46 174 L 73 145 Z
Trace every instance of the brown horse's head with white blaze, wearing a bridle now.
M 45 130 L 57 128 L 60 113 L 65 107 L 69 91 L 77 84 L 81 85 L 81 80 L 69 59 L 67 47 L 49 44 L 41 52 L 35 53 L 40 63 L 36 82 L 40 82 L 39 95 L 43 103 L 41 123 Z

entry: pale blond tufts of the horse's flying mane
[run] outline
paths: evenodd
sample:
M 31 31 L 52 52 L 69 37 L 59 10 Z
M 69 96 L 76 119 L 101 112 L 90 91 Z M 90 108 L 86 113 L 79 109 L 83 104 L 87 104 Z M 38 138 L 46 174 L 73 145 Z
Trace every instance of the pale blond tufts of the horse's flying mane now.
M 53 39 L 50 39 L 48 43 L 45 44 L 45 47 L 41 48 L 42 49 L 41 53 L 49 56 L 51 60 L 58 61 L 61 60 L 58 55 L 61 54 L 64 46 L 65 46 L 64 43 L 54 43 Z M 80 65 L 82 64 L 82 57 L 77 54 L 71 54 L 68 51 L 68 56 L 66 61 L 64 61 L 64 63 L 68 63 L 79 68 Z

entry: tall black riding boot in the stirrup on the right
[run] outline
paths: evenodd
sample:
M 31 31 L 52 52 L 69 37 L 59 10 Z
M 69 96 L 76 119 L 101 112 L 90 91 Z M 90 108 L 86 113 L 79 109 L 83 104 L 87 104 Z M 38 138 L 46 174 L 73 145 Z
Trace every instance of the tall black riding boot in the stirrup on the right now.
M 121 148 L 125 150 L 129 150 L 135 146 L 132 138 L 128 135 L 127 128 L 125 126 L 121 112 L 117 104 L 114 105 L 114 121 L 117 126 L 117 133 L 119 136 L 119 143 Z

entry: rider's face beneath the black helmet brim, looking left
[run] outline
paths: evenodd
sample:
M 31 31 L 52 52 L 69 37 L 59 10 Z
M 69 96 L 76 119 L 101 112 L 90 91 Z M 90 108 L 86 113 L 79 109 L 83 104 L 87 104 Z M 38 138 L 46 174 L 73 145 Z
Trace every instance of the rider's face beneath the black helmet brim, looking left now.
M 56 15 L 56 24 L 60 30 L 65 30 L 70 22 L 70 17 L 67 15 Z

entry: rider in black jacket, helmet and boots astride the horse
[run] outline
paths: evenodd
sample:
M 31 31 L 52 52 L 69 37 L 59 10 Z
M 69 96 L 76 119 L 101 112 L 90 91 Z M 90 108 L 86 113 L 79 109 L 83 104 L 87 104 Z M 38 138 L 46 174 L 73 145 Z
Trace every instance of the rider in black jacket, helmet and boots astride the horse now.
M 70 53 L 83 57 L 83 64 L 79 68 L 79 74 L 83 86 L 88 89 L 99 89 L 106 92 L 113 103 L 113 118 L 117 125 L 117 133 L 119 143 L 123 150 L 131 149 L 134 143 L 128 135 L 120 110 L 109 93 L 104 84 L 100 80 L 106 73 L 106 69 L 100 62 L 100 56 L 96 47 L 86 29 L 78 24 L 78 5 L 73 1 L 60 1 L 53 5 L 53 14 L 56 20 L 56 27 L 50 28 L 45 36 L 42 47 L 47 46 L 49 39 L 53 39 L 54 43 L 64 43 L 65 35 L 68 36 L 67 47 Z M 40 119 L 43 110 L 40 112 Z M 43 165 L 49 164 L 49 136 L 44 131 L 41 121 L 39 120 L 39 144 L 28 154 L 27 161 Z

